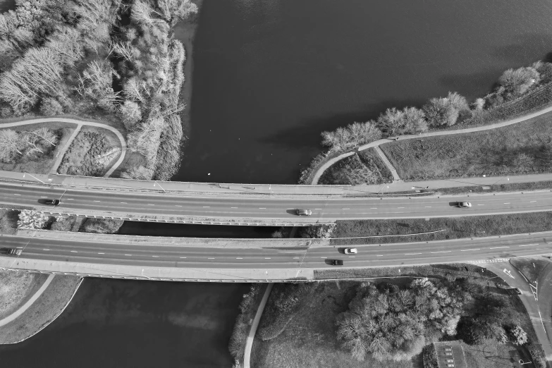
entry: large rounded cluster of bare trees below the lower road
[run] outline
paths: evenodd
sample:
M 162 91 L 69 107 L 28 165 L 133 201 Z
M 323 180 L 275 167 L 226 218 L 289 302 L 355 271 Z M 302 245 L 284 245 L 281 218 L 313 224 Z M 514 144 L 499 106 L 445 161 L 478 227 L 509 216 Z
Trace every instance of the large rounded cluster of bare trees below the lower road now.
M 453 336 L 463 296 L 427 278 L 409 288 L 364 284 L 336 320 L 337 337 L 357 360 L 405 360 L 418 354 L 426 338 Z

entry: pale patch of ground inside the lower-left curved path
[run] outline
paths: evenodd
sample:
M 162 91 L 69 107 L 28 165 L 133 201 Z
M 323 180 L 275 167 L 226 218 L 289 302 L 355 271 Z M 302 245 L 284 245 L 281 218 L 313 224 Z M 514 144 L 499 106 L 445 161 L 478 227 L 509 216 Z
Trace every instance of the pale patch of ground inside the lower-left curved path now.
M 24 305 L 46 281 L 47 275 L 0 270 L 0 319 Z

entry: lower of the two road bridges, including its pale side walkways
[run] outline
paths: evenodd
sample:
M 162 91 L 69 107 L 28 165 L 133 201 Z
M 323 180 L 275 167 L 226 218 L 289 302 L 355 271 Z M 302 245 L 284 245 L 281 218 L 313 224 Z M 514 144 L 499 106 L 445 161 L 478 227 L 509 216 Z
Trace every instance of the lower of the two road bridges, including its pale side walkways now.
M 314 279 L 315 270 L 451 262 L 480 262 L 550 254 L 552 232 L 434 242 L 355 245 L 344 254 L 336 240 L 152 238 L 54 231 L 1 235 L 0 267 L 82 276 L 166 281 L 290 281 Z M 331 266 L 342 259 L 344 266 Z

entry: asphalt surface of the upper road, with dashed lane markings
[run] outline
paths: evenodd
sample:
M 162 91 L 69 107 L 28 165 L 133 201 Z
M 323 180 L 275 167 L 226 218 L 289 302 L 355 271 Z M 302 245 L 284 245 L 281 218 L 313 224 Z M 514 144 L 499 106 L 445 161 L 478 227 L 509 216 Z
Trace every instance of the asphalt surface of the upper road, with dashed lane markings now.
M 61 199 L 57 207 L 44 200 Z M 471 208 L 455 207 L 469 201 Z M 72 190 L 0 183 L 0 203 L 44 211 L 104 216 L 180 216 L 205 219 L 283 219 L 290 222 L 343 219 L 407 219 L 552 210 L 552 192 L 472 195 L 472 197 L 330 198 L 308 196 L 184 197 L 163 193 Z M 312 216 L 297 216 L 311 209 Z

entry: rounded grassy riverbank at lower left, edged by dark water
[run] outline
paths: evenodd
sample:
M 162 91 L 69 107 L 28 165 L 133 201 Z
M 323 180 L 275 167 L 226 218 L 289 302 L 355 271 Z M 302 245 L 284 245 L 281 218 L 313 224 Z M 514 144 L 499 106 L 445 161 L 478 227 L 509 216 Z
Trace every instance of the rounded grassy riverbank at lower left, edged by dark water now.
M 23 274 L 18 271 L 2 271 L 2 273 Z M 27 282 L 30 279 L 30 282 Z M 18 298 L 18 302 L 12 303 L 9 309 L 12 313 L 23 307 L 25 303 L 32 298 L 37 290 L 44 284 L 47 276 L 44 274 L 27 274 L 26 278 L 19 278 L 20 286 L 27 286 L 23 298 Z M 73 295 L 78 290 L 81 277 L 55 275 L 47 288 L 32 302 L 27 309 L 9 321 L 0 329 L 0 344 L 13 344 L 25 341 L 27 338 L 45 329 L 52 321 L 66 309 Z M 17 288 L 17 286 L 14 286 Z M 11 293 L 10 293 L 11 294 Z M 6 318 L 7 316 L 4 316 Z

